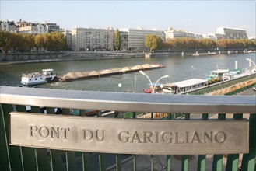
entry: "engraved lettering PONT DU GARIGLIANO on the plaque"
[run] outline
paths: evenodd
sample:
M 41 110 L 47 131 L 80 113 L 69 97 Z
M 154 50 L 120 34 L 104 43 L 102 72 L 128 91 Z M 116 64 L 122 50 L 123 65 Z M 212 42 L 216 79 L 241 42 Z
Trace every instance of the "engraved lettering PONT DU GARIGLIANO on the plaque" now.
M 75 129 L 77 130 L 77 129 Z M 81 128 L 82 141 L 103 142 L 110 138 L 111 141 L 119 143 L 147 143 L 147 144 L 205 144 L 205 143 L 223 143 L 227 135 L 224 131 L 117 131 L 111 132 L 107 137 L 107 129 L 88 129 Z M 47 127 L 30 125 L 30 137 L 38 138 L 71 138 L 72 129 L 70 127 Z M 114 138 L 115 137 L 115 138 Z

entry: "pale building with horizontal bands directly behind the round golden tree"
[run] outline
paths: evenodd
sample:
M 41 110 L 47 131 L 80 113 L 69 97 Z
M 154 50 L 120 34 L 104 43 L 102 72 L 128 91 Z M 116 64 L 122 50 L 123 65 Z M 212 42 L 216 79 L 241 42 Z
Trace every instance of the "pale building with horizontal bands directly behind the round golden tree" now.
M 148 34 L 154 34 L 160 37 L 163 41 L 165 40 L 165 35 L 163 31 L 160 30 L 144 30 L 139 29 L 121 29 L 121 32 L 128 33 L 128 50 L 146 50 L 144 46 L 145 37 Z

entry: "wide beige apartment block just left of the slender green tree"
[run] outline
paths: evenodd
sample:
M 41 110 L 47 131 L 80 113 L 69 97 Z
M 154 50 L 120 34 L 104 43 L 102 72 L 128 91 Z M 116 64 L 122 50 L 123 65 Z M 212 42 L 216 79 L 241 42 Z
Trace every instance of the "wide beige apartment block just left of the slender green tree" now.
M 72 50 L 114 49 L 114 29 L 73 28 Z

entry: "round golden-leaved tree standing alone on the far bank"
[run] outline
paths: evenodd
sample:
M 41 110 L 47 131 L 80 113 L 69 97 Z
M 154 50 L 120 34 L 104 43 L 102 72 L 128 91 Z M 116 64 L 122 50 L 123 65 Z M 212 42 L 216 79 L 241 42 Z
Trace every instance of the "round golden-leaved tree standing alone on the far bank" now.
M 156 50 L 160 47 L 162 47 L 162 44 L 163 44 L 163 40 L 154 35 L 154 34 L 148 34 L 146 37 L 145 37 L 145 47 L 148 47 L 149 50 L 150 50 L 150 53 L 153 51 L 153 50 Z

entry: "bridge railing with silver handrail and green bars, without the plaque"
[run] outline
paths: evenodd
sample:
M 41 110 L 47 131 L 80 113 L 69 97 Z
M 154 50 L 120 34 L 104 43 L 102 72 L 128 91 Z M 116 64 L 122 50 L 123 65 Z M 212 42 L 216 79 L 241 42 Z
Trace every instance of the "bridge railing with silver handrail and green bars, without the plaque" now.
M 33 89 L 23 87 L 0 87 L 0 166 L 3 170 L 93 170 L 93 156 L 97 155 L 96 169 L 113 169 L 106 162 L 108 154 L 91 154 L 89 152 L 61 152 L 60 150 L 27 148 L 9 145 L 9 113 L 12 111 L 26 112 L 26 106 L 31 106 L 31 112 L 41 113 L 44 106 L 46 113 L 54 114 L 54 109 L 61 108 L 62 113 L 71 114 L 72 109 L 78 109 L 82 115 L 86 109 L 97 110 L 101 117 L 102 110 L 116 112 L 168 113 L 167 120 L 173 120 L 172 115 L 183 113 L 183 120 L 191 120 L 192 113 L 201 120 L 211 120 L 211 113 L 216 113 L 219 120 L 225 120 L 232 113 L 234 119 L 242 119 L 249 114 L 249 153 L 213 155 L 212 170 L 254 170 L 256 155 L 256 99 L 255 96 L 196 96 L 196 95 L 160 95 L 122 92 L 86 92 L 61 89 Z M 229 115 L 230 116 L 230 115 Z M 153 118 L 151 118 L 153 119 Z M 138 154 L 139 155 L 139 154 Z M 132 169 L 136 170 L 138 155 L 129 155 L 133 159 Z M 240 155 L 243 155 L 240 158 Z M 113 157 L 113 156 L 112 156 Z M 190 155 L 184 152 L 181 156 L 181 169 L 190 170 Z M 226 157 L 226 159 L 224 159 Z M 111 158 L 111 157 L 110 157 Z M 123 155 L 114 155 L 114 167 L 121 170 Z M 112 158 L 111 158 L 112 159 Z M 149 156 L 149 167 L 154 170 L 156 156 Z M 197 155 L 196 168 L 207 170 L 206 155 Z M 241 159 L 241 161 L 240 161 Z M 226 161 L 226 162 L 224 162 Z M 172 155 L 166 156 L 166 169 L 171 170 Z

